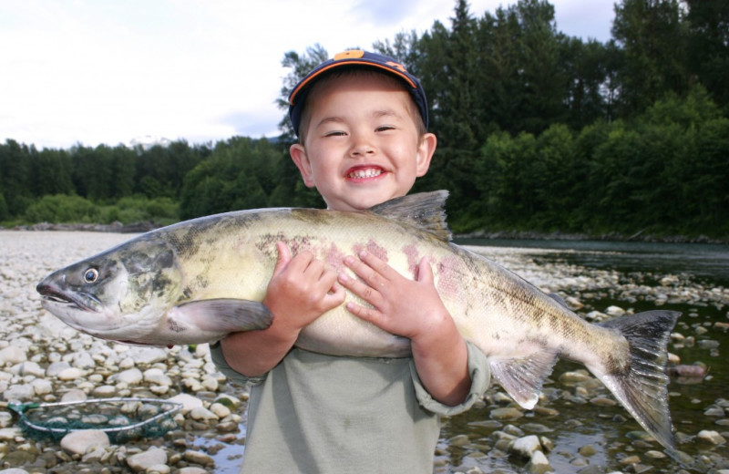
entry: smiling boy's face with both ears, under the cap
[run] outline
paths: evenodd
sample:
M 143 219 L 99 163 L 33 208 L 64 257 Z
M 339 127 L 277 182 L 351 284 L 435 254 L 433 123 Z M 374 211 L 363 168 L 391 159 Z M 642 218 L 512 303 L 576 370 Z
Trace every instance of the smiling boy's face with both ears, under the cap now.
M 364 210 L 404 196 L 426 174 L 436 136 L 418 136 L 409 94 L 381 74 L 325 78 L 309 94 L 308 126 L 291 156 L 329 209 Z

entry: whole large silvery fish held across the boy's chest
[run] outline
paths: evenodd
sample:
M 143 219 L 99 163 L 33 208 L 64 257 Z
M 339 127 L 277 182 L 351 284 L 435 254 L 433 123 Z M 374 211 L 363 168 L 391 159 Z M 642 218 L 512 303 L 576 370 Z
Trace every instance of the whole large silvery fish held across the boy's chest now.
M 276 242 L 313 252 L 336 271 L 346 271 L 346 255 L 367 250 L 412 278 L 427 257 L 460 334 L 488 356 L 492 376 L 519 405 L 534 407 L 557 358 L 568 358 L 587 366 L 673 449 L 664 368 L 680 314 L 589 324 L 515 273 L 449 242 L 446 197 L 414 194 L 362 212 L 265 209 L 180 222 L 51 273 L 37 290 L 48 311 L 91 335 L 128 344 L 204 343 L 271 324 L 260 302 Z M 344 304 L 307 326 L 296 345 L 334 356 L 410 350 L 407 339 L 356 318 Z

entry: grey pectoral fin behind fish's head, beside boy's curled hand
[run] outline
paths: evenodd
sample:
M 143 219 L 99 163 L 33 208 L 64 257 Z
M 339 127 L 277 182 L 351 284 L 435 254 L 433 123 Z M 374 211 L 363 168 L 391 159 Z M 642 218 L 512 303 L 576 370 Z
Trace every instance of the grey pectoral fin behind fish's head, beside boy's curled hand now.
M 260 302 L 219 298 L 190 301 L 176 307 L 185 319 L 202 331 L 210 333 L 237 333 L 266 329 L 273 322 L 273 314 Z

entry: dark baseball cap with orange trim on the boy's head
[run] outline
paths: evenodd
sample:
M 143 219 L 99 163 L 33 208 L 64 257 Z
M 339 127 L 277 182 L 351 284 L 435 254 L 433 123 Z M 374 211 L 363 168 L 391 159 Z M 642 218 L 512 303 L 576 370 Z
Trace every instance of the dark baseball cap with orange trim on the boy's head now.
M 293 131 L 298 135 L 299 125 L 302 118 L 303 103 L 306 101 L 306 95 L 317 79 L 322 78 L 332 69 L 339 67 L 370 67 L 382 70 L 400 79 L 405 85 L 410 96 L 415 100 L 423 123 L 428 126 L 427 119 L 427 100 L 426 91 L 420 85 L 417 77 L 413 76 L 405 66 L 395 61 L 392 57 L 369 53 L 362 49 L 350 49 L 334 55 L 332 59 L 327 59 L 322 64 L 314 67 L 303 79 L 293 88 L 289 95 L 289 118 L 293 125 Z

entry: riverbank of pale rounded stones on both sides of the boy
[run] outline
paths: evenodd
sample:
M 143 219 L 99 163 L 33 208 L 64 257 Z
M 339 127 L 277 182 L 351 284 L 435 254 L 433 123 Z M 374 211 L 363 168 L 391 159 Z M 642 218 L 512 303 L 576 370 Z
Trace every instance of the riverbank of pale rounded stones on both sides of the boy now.
M 173 416 L 177 426 L 159 438 L 124 442 L 98 432 L 90 441 L 76 436 L 37 440 L 18 427 L 11 411 L 0 409 L 0 474 L 237 472 L 245 444 L 247 395 L 211 364 L 207 345 L 159 349 L 107 343 L 77 333 L 40 307 L 35 285 L 46 273 L 129 237 L 0 231 L 0 392 L 5 401 L 20 403 L 171 399 L 183 405 Z M 672 338 L 673 364 L 693 363 L 694 358 L 684 361 L 682 355 L 694 351 L 693 357 L 703 356 L 704 366 L 722 365 L 721 341 L 729 321 L 707 322 L 701 313 L 707 307 L 726 313 L 729 291 L 724 288 L 706 287 L 683 275 L 642 280 L 570 265 L 538 265 L 529 257 L 539 252 L 533 249 L 529 254 L 498 248 L 487 252 L 543 290 L 561 294 L 594 321 L 619 317 L 636 302 L 683 304 L 689 309 Z M 585 301 L 607 299 L 623 304 L 585 306 Z M 697 383 L 711 387 L 712 380 L 725 380 L 720 374 L 719 368 L 710 369 Z M 700 414 L 695 419 L 674 414 L 676 462 L 645 437 L 582 367 L 567 366 L 552 378 L 535 410 L 520 409 L 493 387 L 467 416 L 445 419 L 435 472 L 729 473 L 729 401 L 724 397 L 672 388 L 672 400 L 688 398 L 685 404 L 698 407 Z M 599 431 L 590 428 L 594 418 L 604 419 Z

